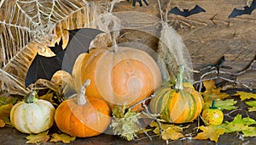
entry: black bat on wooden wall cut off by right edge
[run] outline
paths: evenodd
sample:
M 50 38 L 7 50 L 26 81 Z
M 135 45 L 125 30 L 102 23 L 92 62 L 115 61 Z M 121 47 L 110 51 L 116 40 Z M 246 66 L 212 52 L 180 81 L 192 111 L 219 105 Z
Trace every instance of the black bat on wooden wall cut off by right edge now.
M 235 18 L 238 15 L 242 14 L 252 14 L 253 10 L 256 8 L 256 0 L 253 0 L 253 3 L 250 7 L 245 6 L 244 9 L 236 9 L 234 8 L 232 13 L 229 15 L 229 18 Z

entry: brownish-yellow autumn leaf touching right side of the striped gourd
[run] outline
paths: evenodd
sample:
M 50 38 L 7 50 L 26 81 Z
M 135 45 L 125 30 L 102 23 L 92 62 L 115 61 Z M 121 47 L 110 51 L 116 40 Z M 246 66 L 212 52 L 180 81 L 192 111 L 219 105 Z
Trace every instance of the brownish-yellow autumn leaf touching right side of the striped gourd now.
M 204 86 L 206 85 L 206 91 L 201 92 L 201 95 L 203 96 L 206 102 L 224 99 L 230 96 L 227 93 L 221 92 L 221 87 L 216 88 L 214 81 L 203 81 L 203 84 Z

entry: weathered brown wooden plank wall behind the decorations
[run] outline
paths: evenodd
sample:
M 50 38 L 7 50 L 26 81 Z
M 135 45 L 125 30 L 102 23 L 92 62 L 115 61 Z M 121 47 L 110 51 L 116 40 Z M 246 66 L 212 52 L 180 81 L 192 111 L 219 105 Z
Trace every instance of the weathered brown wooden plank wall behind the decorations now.
M 115 12 L 138 11 L 152 14 L 160 18 L 157 0 L 148 0 L 149 6 L 132 7 L 131 3 L 119 3 Z M 194 8 L 199 5 L 207 12 L 190 15 L 189 17 L 168 14 L 167 21 L 183 38 L 189 50 L 195 70 L 200 70 L 207 64 L 216 64 L 225 56 L 224 65 L 232 67 L 230 72 L 238 72 L 246 68 L 256 55 L 256 10 L 252 14 L 244 14 L 236 18 L 228 18 L 233 8 L 243 8 L 252 0 L 160 0 L 163 13 L 171 8 Z M 137 3 L 138 4 L 138 3 Z M 134 37 L 136 36 L 136 38 Z M 137 39 L 145 42 L 144 34 L 130 35 L 126 39 Z M 140 39 L 140 40 L 138 40 Z M 148 38 L 150 39 L 150 38 Z M 157 41 L 147 42 L 150 47 L 157 46 Z M 255 68 L 255 64 L 253 68 Z M 197 75 L 195 75 L 195 79 Z M 255 70 L 239 75 L 236 81 L 241 81 L 256 88 Z

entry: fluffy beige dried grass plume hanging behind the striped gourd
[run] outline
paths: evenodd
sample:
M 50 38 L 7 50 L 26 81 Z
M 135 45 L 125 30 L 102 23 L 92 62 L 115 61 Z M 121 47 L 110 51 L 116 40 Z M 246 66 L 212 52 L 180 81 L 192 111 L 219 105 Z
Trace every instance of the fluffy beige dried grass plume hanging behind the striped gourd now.
M 179 65 L 183 64 L 185 67 L 183 77 L 188 81 L 192 81 L 192 63 L 187 47 L 182 38 L 177 34 L 177 31 L 166 22 L 162 25 L 157 53 L 159 53 L 160 58 L 163 59 L 167 65 L 170 80 L 174 81 L 176 79 Z

